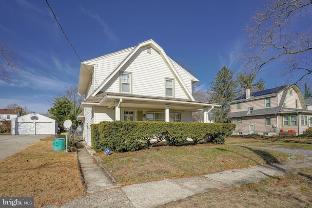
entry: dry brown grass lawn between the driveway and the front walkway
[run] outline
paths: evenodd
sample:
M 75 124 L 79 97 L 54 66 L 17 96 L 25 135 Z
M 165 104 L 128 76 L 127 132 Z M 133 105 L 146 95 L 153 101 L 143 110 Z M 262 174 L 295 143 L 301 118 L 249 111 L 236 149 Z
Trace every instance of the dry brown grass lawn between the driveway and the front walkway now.
M 0 196 L 33 196 L 34 206 L 60 204 L 84 195 L 77 153 L 53 151 L 47 137 L 0 161 Z

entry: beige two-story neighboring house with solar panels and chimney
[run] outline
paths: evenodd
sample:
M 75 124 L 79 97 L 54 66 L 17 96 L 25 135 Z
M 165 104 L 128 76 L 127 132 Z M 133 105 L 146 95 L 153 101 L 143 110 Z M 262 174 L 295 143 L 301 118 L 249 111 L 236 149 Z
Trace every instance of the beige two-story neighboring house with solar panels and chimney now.
M 312 119 L 302 93 L 296 85 L 246 94 L 230 103 L 231 123 L 236 124 L 235 135 L 258 133 L 279 135 L 281 132 L 305 132 Z

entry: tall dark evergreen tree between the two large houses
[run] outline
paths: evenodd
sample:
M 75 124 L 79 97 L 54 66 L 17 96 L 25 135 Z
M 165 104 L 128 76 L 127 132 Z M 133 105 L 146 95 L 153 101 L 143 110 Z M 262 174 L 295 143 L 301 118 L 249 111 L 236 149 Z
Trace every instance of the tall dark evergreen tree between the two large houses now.
M 215 81 L 209 82 L 211 89 L 207 90 L 210 95 L 209 102 L 217 103 L 220 108 L 215 108 L 211 113 L 211 118 L 215 123 L 227 123 L 227 114 L 230 112 L 230 102 L 237 96 L 238 84 L 233 79 L 234 73 L 223 66 L 218 71 Z

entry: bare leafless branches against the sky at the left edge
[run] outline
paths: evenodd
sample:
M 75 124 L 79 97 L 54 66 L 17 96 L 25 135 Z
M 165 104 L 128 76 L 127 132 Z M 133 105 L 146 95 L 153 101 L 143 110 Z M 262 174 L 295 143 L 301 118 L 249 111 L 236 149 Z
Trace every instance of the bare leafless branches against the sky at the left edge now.
M 11 74 L 19 72 L 20 58 L 0 39 L 0 80 L 11 81 Z

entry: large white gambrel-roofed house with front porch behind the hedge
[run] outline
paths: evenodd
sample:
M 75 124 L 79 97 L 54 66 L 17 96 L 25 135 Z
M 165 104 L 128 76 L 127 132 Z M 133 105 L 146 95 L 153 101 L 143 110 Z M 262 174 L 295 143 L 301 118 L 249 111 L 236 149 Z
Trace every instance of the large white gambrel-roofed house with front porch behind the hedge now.
M 166 55 L 152 39 L 81 63 L 78 93 L 85 96 L 78 115 L 83 138 L 91 145 L 91 124 L 100 121 L 192 122 L 202 109 L 204 122 L 219 105 L 196 102 L 198 80 Z

